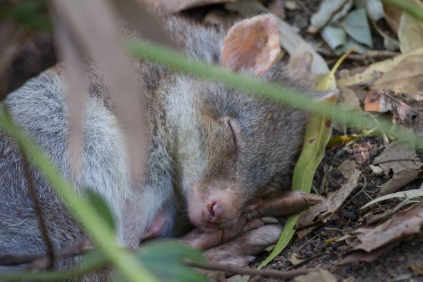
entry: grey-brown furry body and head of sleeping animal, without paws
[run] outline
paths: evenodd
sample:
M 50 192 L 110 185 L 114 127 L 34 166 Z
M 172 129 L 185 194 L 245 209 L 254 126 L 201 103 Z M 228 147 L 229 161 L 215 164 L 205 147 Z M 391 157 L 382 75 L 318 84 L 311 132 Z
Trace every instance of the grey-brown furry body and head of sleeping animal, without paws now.
M 261 29 L 272 21 L 264 15 L 229 35 L 223 27 L 205 28 L 177 17 L 166 26 L 187 55 L 263 80 L 295 83 L 277 61 L 279 53 L 264 54 L 274 52 L 272 46 L 265 48 L 280 40 L 261 37 Z M 259 31 L 248 35 L 256 25 Z M 90 187 L 106 200 L 122 245 L 138 247 L 143 238 L 171 235 L 182 218 L 177 214 L 181 206 L 203 230 L 230 227 L 258 205 L 259 195 L 290 187 L 304 113 L 155 64 L 135 64 L 147 86 L 151 138 L 142 182 L 131 183 L 124 137 L 95 71 L 88 73 L 82 169 L 71 178 L 78 193 Z M 65 95 L 62 67 L 57 66 L 10 93 L 5 104 L 15 122 L 70 177 Z M 0 254 L 44 253 L 21 153 L 8 136 L 0 138 Z M 54 247 L 88 241 L 41 175 L 32 171 L 32 178 Z M 68 260 L 65 266 L 76 263 Z

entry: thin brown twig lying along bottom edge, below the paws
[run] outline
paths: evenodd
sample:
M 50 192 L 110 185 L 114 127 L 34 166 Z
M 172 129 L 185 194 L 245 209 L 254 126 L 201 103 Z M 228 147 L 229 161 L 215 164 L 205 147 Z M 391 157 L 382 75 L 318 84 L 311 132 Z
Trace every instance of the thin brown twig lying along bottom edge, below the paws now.
M 232 272 L 232 273 L 241 274 L 241 275 L 272 276 L 272 277 L 278 277 L 280 279 L 289 279 L 299 275 L 308 274 L 309 272 L 317 270 L 317 268 L 307 268 L 303 270 L 290 270 L 290 271 L 255 270 L 253 268 L 238 267 L 234 265 L 222 265 L 220 263 L 198 264 L 198 263 L 189 262 L 186 264 L 190 267 L 196 267 L 202 270 L 217 270 L 217 271 L 223 271 L 223 272 Z

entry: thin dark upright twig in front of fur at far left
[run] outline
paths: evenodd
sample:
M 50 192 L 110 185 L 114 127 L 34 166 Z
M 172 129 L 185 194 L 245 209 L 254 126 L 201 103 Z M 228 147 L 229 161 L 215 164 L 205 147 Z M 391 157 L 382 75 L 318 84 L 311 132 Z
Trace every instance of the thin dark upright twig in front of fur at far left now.
M 41 205 L 39 205 L 39 198 L 37 191 L 35 191 L 34 182 L 32 181 L 32 175 L 30 173 L 29 169 L 29 162 L 26 156 L 23 155 L 23 172 L 25 173 L 26 182 L 28 186 L 28 190 L 30 191 L 30 195 L 32 198 L 32 202 L 34 202 L 34 209 L 38 217 L 38 223 L 39 223 L 39 229 L 41 231 L 41 234 L 44 238 L 44 243 L 46 243 L 47 246 L 47 254 L 49 258 L 49 263 L 47 265 L 47 268 L 53 268 L 55 265 L 55 250 L 53 249 L 53 243 L 50 240 L 50 236 L 48 236 L 48 230 L 46 226 L 46 222 L 44 221 L 43 214 L 41 212 Z

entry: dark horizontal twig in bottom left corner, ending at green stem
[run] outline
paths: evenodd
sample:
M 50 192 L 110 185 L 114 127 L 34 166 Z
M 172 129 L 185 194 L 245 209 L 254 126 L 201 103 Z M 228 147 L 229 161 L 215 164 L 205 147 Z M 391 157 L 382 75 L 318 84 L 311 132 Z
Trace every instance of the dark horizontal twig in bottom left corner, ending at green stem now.
M 71 256 L 84 254 L 87 250 L 92 250 L 93 246 L 83 243 L 73 245 L 68 248 L 55 251 L 55 259 L 61 260 Z M 37 269 L 44 268 L 50 263 L 50 254 L 2 254 L 0 255 L 0 265 L 13 266 L 30 263 Z

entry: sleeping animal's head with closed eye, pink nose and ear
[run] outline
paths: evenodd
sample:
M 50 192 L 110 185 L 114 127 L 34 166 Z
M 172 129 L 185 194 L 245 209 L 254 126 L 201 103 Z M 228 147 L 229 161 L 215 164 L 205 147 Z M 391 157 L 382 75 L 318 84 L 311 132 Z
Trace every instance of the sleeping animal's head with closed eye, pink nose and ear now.
M 262 15 L 236 23 L 222 44 L 221 64 L 265 80 L 286 79 L 276 19 Z M 178 126 L 180 182 L 192 222 L 228 227 L 258 198 L 292 173 L 306 118 L 282 104 L 250 97 L 220 84 L 180 76 L 182 95 L 172 109 Z M 171 94 L 172 95 L 172 94 Z M 285 178 L 286 179 L 286 178 Z M 286 183 L 285 183 L 286 184 Z

